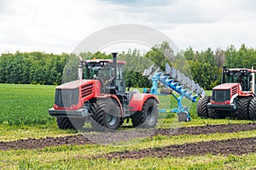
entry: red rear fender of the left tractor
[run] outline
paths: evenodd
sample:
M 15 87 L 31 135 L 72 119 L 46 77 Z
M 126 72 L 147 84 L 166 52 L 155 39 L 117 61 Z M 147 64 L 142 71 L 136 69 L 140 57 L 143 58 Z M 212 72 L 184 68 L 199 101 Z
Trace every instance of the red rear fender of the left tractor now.
M 130 111 L 142 111 L 143 105 L 147 99 L 155 99 L 157 104 L 160 103 L 159 99 L 154 94 L 133 94 L 130 100 Z

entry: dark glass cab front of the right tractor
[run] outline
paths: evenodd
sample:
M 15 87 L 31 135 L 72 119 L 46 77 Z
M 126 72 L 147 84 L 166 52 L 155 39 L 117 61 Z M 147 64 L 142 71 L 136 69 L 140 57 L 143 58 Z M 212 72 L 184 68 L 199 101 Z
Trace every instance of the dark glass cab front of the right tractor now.
M 224 82 L 238 82 L 243 91 L 249 91 L 252 77 L 249 71 L 224 71 Z

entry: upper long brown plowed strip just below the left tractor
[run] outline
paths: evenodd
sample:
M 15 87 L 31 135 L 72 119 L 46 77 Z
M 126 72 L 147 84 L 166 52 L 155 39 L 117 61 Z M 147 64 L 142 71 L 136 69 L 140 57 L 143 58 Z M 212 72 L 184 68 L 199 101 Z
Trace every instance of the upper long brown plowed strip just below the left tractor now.
M 115 133 L 79 134 L 65 137 L 47 137 L 44 139 L 20 139 L 16 141 L 0 142 L 0 150 L 33 150 L 47 146 L 59 146 L 64 144 L 113 144 L 119 141 L 127 141 L 138 138 L 148 138 L 157 135 L 180 134 L 208 134 L 208 133 L 236 133 L 256 129 L 256 123 L 247 124 L 223 124 L 198 127 L 181 127 L 177 129 L 148 129 L 137 131 L 117 131 Z M 214 141 L 212 141 L 214 142 Z M 249 144 L 249 142 L 248 142 Z

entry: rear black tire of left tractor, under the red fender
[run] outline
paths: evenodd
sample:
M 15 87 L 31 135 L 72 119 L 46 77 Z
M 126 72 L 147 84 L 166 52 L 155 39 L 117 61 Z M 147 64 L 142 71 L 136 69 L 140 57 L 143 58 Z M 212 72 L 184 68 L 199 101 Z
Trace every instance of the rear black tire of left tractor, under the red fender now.
M 152 128 L 158 119 L 158 107 L 154 99 L 148 99 L 142 111 L 137 111 L 131 116 L 133 127 Z

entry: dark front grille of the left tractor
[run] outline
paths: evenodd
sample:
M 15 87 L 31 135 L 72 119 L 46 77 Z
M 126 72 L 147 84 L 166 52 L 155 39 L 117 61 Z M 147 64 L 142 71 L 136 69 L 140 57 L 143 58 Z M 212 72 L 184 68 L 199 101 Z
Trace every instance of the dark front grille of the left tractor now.
M 79 88 L 76 89 L 56 89 L 55 105 L 59 107 L 70 107 L 79 103 Z

